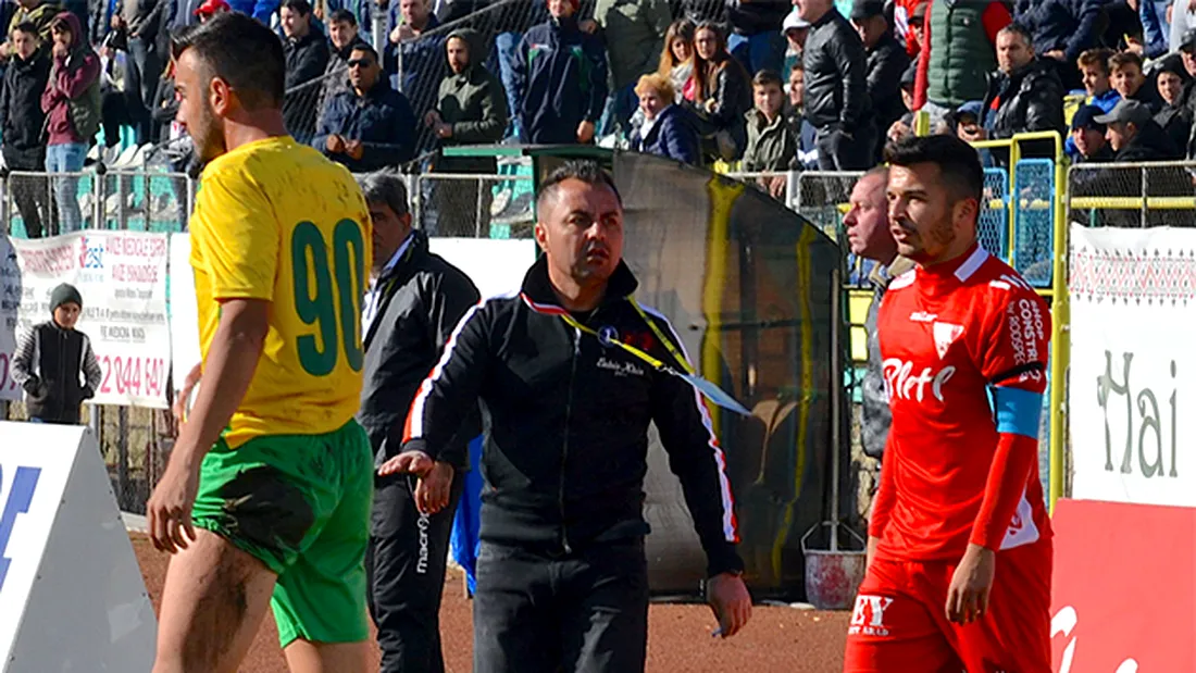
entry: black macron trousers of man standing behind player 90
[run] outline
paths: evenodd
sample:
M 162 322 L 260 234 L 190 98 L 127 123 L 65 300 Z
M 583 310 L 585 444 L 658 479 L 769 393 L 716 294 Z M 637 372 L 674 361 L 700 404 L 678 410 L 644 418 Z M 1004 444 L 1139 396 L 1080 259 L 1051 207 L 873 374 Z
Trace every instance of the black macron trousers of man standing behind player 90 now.
M 382 673 L 444 673 L 440 595 L 464 483 L 464 476 L 457 475 L 448 507 L 425 516 L 415 508 L 414 478 L 378 477 L 366 574 Z

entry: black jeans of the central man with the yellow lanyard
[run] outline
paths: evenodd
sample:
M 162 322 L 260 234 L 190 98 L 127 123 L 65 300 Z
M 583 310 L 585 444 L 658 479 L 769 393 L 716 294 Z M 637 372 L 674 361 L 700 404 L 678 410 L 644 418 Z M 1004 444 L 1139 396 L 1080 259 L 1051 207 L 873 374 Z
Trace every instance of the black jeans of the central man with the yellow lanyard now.
M 647 646 L 643 538 L 565 556 L 482 542 L 474 673 L 639 673 Z

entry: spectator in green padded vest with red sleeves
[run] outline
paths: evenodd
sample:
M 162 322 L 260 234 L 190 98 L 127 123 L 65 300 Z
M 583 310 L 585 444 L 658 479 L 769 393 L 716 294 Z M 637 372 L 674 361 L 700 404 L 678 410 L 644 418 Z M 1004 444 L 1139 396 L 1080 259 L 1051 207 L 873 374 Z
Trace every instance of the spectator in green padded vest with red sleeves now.
M 952 110 L 987 93 L 987 75 L 996 69 L 996 33 L 1013 22 L 997 0 L 929 0 L 919 55 L 914 106 L 938 127 Z

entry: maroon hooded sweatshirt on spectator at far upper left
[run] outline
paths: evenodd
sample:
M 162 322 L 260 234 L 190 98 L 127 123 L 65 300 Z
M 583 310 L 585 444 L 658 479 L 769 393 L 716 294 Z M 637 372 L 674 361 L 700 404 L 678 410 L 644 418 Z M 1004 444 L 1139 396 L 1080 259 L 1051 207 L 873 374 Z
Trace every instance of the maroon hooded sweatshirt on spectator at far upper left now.
M 57 17 L 71 26 L 71 50 L 66 56 L 54 56 L 50 81 L 42 92 L 42 111 L 45 112 L 49 141 L 47 145 L 66 145 L 68 142 L 90 142 L 83 137 L 71 121 L 69 102 L 75 104 L 99 106 L 99 56 L 91 50 L 84 39 L 85 33 L 79 25 L 79 18 L 71 12 L 61 12 Z M 48 47 L 53 49 L 53 47 Z M 92 96 L 92 87 L 96 96 Z

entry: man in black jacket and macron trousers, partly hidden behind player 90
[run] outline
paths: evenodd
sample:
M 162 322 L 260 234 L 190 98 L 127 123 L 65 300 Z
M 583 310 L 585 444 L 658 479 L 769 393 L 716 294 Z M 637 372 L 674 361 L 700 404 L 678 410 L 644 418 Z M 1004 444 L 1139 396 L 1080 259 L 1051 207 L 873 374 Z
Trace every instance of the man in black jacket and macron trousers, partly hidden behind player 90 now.
M 358 421 L 382 464 L 398 452 L 399 443 L 388 438 L 402 427 L 416 388 L 478 294 L 465 274 L 428 252 L 423 232 L 411 230 L 402 178 L 371 173 L 359 182 L 373 220 L 374 281 L 364 304 L 365 385 Z M 447 507 L 421 514 L 405 475 L 377 479 L 366 571 L 383 673 L 444 671 L 438 613 L 445 555 L 468 466 L 464 447 L 478 433 L 477 415 L 463 409 L 469 420 L 446 452 L 453 458 L 435 466 L 451 484 Z

